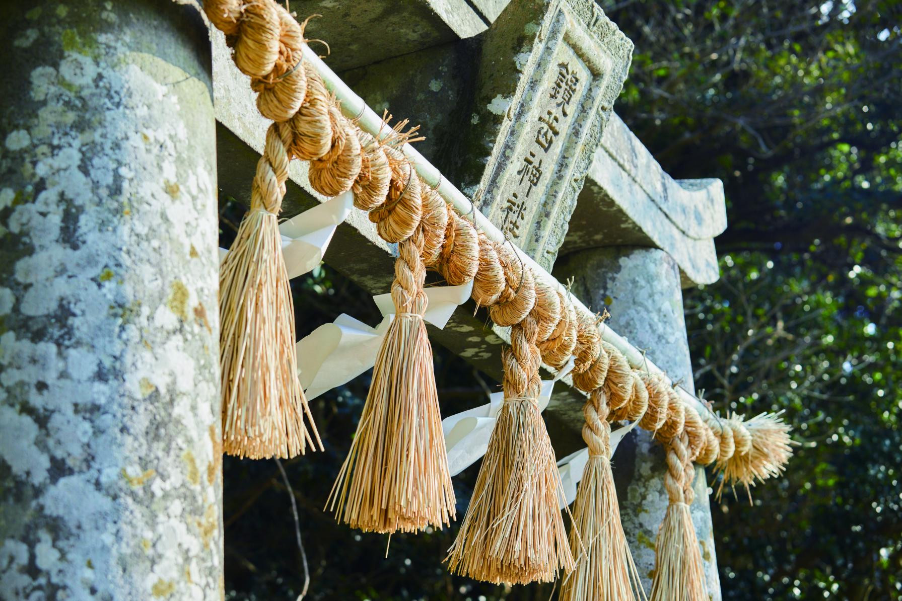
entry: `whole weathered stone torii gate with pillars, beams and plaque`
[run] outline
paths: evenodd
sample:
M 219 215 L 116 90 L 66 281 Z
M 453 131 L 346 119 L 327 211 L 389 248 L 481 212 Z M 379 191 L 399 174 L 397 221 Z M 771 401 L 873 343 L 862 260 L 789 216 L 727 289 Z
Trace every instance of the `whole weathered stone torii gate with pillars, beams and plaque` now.
M 421 121 L 420 150 L 480 198 L 486 223 L 575 277 L 575 296 L 610 307 L 612 328 L 691 393 L 681 289 L 718 277 L 723 187 L 669 178 L 612 114 L 630 41 L 588 0 L 419 0 L 394 11 L 390 44 L 373 14 L 311 27 L 336 42 L 338 77 L 374 109 Z M 215 198 L 248 197 L 266 124 L 194 7 L 34 3 L 8 23 L 0 592 L 221 596 Z M 543 146 L 524 131 L 546 117 L 530 91 L 562 75 L 583 102 L 545 122 Z M 566 143 L 552 148 L 551 132 Z M 456 153 L 440 146 L 451 133 Z M 541 173 L 509 188 L 506 169 L 538 167 L 536 153 Z M 323 200 L 303 163 L 289 185 L 299 204 L 286 216 Z M 364 214 L 339 228 L 327 262 L 373 293 L 388 287 L 391 248 Z M 468 313 L 431 336 L 497 377 L 504 332 Z M 558 387 L 546 417 L 561 456 L 582 402 Z M 645 433 L 619 453 L 624 528 L 646 575 L 654 554 L 639 542 L 667 505 L 664 462 Z M 710 509 L 693 514 L 717 599 Z

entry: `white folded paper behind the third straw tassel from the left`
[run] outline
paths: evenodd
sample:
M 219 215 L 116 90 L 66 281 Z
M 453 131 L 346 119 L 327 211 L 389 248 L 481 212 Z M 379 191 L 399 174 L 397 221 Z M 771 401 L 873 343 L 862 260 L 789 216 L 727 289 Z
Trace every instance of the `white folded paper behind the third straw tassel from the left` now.
M 539 411 L 544 411 L 548 406 L 555 382 L 570 373 L 573 364 L 574 359 L 571 357 L 553 379 L 542 380 L 542 389 L 538 395 Z M 442 420 L 442 432 L 445 433 L 445 447 L 448 453 L 448 471 L 451 476 L 456 476 L 469 468 L 485 454 L 503 401 L 504 393 L 494 392 L 489 395 L 488 405 L 467 409 Z

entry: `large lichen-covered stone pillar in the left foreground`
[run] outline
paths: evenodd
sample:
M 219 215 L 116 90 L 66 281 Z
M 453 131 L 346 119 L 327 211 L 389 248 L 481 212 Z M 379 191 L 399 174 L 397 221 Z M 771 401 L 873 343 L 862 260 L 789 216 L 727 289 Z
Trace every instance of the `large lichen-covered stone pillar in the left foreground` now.
M 153 0 L 0 23 L 0 598 L 221 598 L 207 28 Z

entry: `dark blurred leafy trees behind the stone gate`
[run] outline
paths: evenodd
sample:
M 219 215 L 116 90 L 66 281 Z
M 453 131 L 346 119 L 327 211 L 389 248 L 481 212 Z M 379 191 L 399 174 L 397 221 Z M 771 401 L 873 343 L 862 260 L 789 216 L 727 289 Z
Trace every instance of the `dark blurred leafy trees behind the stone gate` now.
M 902 598 L 902 5 L 894 0 L 610 0 L 635 43 L 616 111 L 675 178 L 721 178 L 721 280 L 686 290 L 696 387 L 722 411 L 785 410 L 802 445 L 785 478 L 712 500 L 724 599 Z M 242 209 L 225 205 L 223 232 Z M 293 282 L 299 336 L 339 313 L 376 323 L 326 267 Z M 438 346 L 443 412 L 494 382 Z M 466 384 L 462 384 L 466 383 Z M 368 380 L 313 405 L 329 444 L 285 468 L 309 599 L 548 599 L 440 563 L 456 533 L 385 537 L 322 511 Z M 343 443 L 344 442 L 344 443 Z M 455 478 L 458 513 L 476 469 Z M 293 599 L 288 490 L 272 462 L 226 458 L 226 590 Z

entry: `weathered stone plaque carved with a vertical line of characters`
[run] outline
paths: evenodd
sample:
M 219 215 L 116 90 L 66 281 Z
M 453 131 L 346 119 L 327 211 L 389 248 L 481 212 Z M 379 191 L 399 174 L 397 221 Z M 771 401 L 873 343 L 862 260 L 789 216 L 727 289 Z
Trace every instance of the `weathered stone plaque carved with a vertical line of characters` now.
M 483 144 L 492 138 L 492 150 L 481 161 L 478 186 L 465 191 L 550 270 L 626 77 L 632 44 L 588 0 L 511 2 L 485 35 L 483 57 L 504 62 L 499 57 L 509 56 L 513 69 L 499 74 L 483 60 L 479 96 L 488 102 L 473 121 Z

